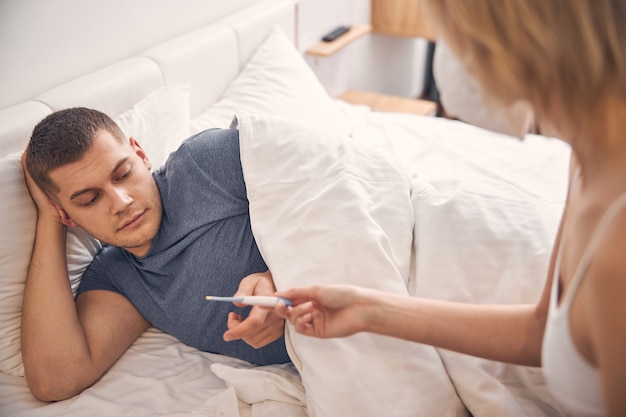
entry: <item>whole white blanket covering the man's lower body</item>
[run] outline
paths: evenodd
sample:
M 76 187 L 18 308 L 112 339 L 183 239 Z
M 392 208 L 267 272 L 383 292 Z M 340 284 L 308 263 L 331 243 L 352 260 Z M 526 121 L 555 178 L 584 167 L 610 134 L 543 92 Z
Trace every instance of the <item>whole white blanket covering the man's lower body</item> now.
M 455 136 L 450 122 L 438 137 L 436 119 L 355 114 L 367 120 L 350 137 L 239 116 L 252 227 L 277 288 L 536 301 L 568 149 L 464 124 Z M 459 397 L 476 416 L 556 414 L 536 369 L 371 334 L 316 340 L 288 329 L 288 339 L 310 416 L 463 415 Z

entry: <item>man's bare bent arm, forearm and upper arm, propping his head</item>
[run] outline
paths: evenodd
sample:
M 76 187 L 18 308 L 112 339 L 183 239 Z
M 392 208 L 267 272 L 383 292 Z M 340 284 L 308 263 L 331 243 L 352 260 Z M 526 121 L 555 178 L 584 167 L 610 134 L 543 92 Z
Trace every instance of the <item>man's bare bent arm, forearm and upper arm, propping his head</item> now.
M 22 307 L 22 357 L 28 385 L 43 401 L 89 387 L 149 326 L 122 295 L 69 284 L 66 228 L 40 213 Z

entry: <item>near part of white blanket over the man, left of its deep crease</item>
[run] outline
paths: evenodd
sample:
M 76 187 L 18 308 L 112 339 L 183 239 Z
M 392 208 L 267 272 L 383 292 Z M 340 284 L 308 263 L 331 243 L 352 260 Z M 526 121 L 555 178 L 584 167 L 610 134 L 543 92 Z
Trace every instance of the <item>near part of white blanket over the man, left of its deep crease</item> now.
M 265 116 L 240 116 L 238 128 L 252 230 L 277 289 L 349 283 L 408 294 L 410 183 L 389 143 Z M 312 416 L 388 415 L 390 406 L 460 415 L 430 346 L 366 333 L 320 340 L 290 327 L 287 336 Z

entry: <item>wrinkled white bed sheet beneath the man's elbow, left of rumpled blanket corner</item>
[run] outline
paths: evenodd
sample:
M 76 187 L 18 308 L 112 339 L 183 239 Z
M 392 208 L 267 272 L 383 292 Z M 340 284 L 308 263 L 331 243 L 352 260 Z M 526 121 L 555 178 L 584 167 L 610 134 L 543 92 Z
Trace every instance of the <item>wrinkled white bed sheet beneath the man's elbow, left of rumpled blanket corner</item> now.
M 65 401 L 37 401 L 25 378 L 0 374 L 0 415 L 78 417 L 92 415 L 97 403 L 100 406 L 96 409 L 103 416 L 189 416 L 194 408 L 226 388 L 210 370 L 215 361 L 237 363 L 199 352 L 150 329 L 96 384 Z

